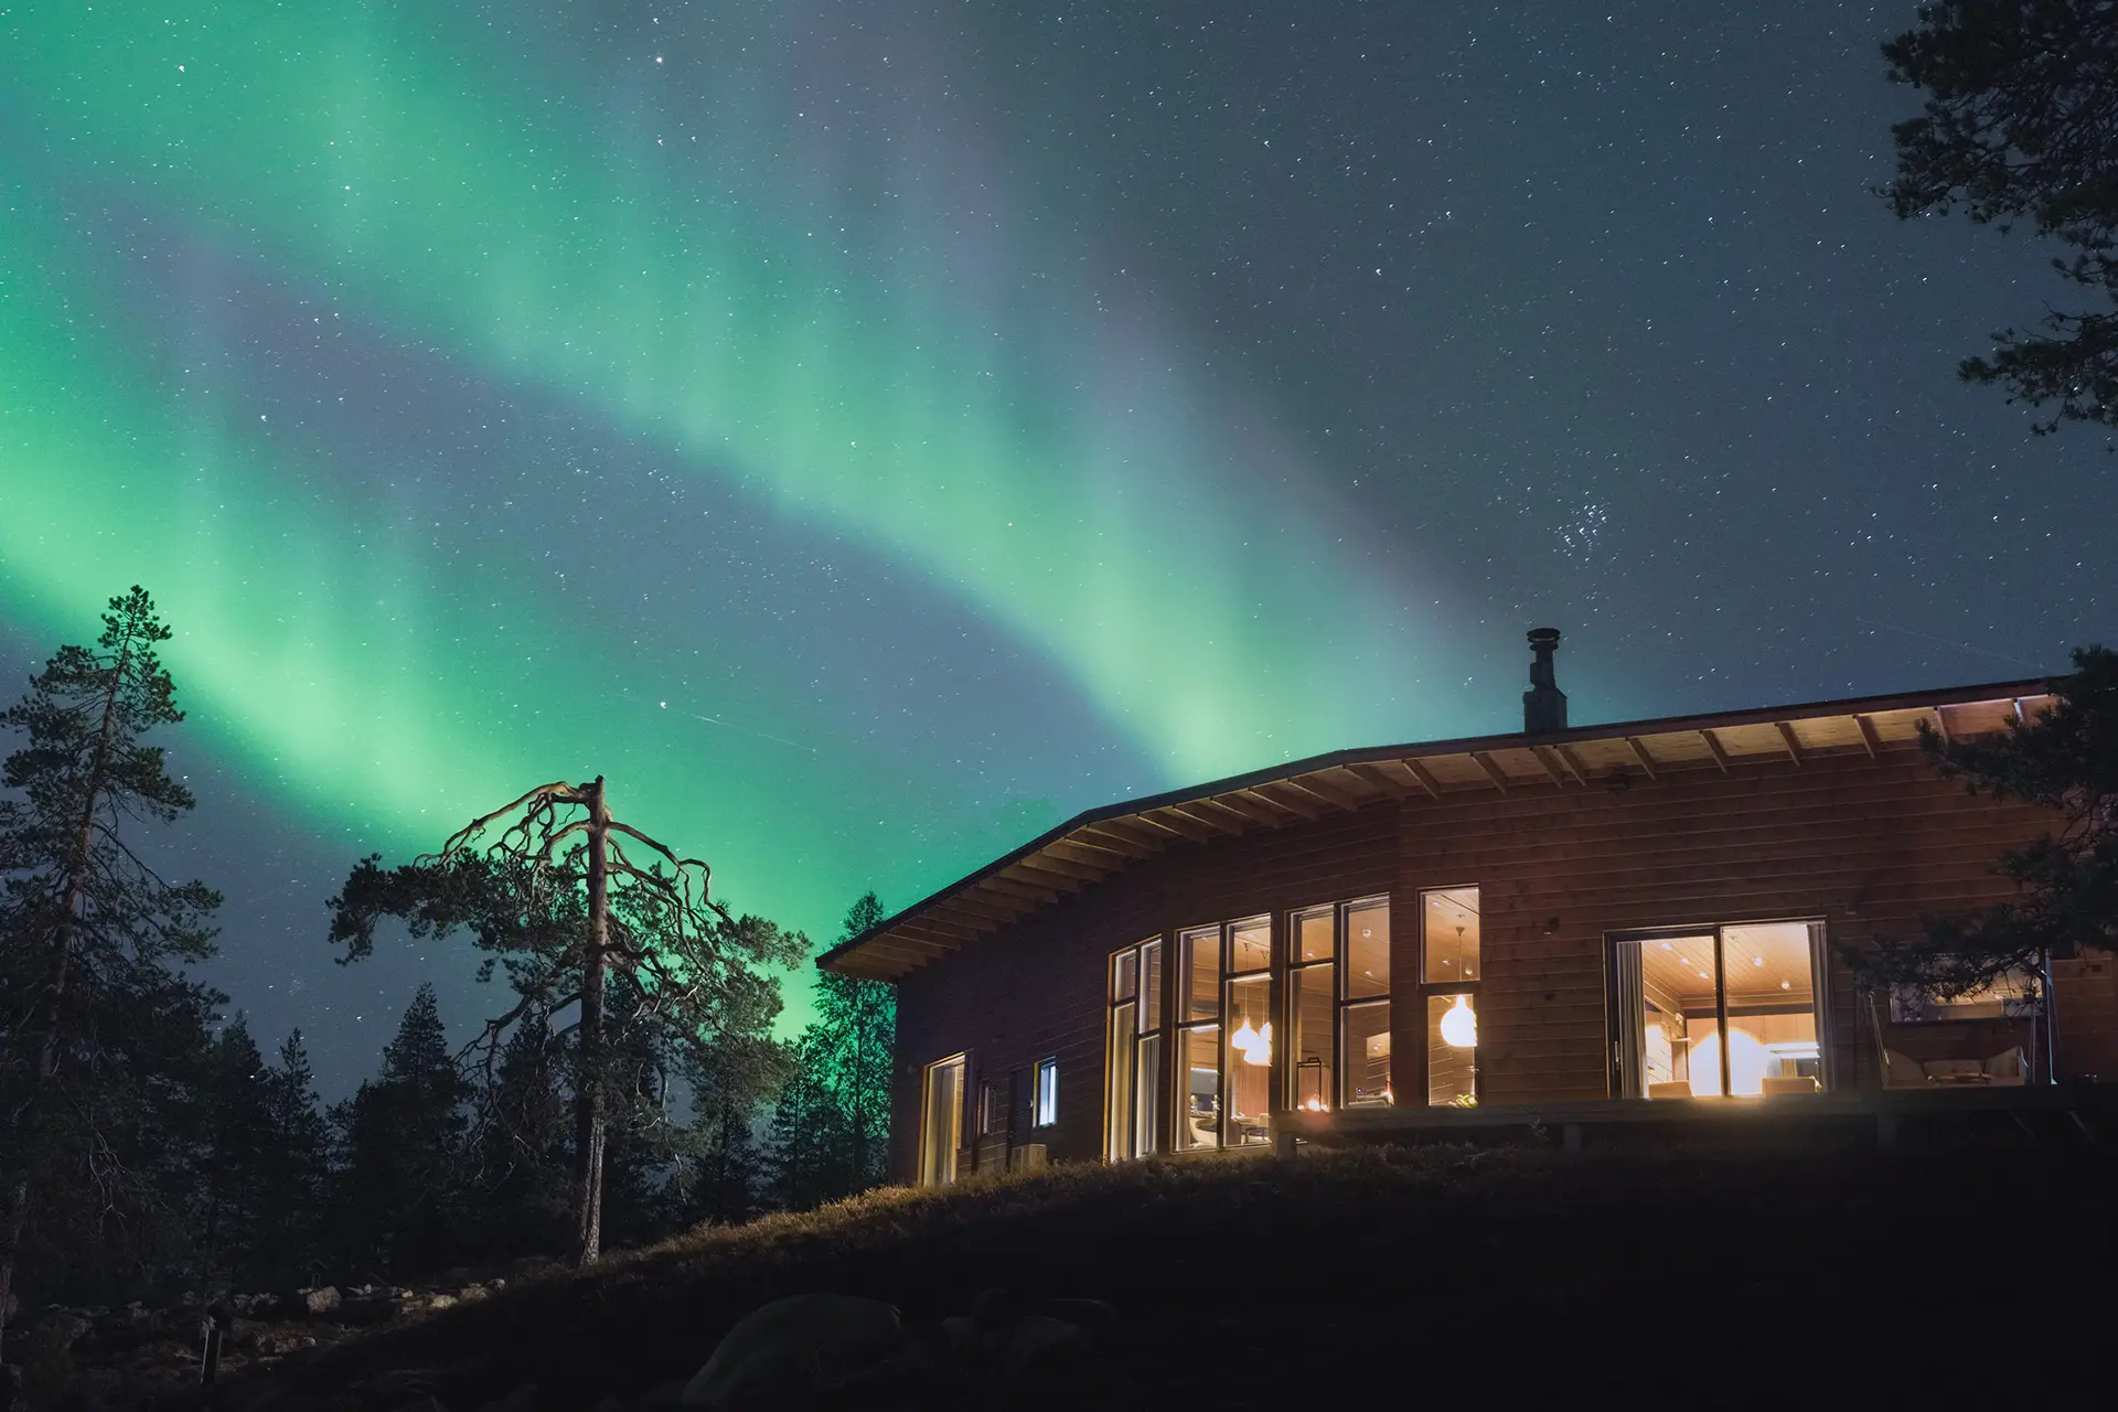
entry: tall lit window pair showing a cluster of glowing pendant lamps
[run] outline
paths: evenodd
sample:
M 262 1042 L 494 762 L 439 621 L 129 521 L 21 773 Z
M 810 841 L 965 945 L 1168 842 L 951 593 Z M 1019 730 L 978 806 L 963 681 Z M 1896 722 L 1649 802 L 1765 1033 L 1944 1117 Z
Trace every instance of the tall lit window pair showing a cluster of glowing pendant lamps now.
M 1178 1147 L 1269 1141 L 1273 923 L 1192 927 L 1178 953 Z

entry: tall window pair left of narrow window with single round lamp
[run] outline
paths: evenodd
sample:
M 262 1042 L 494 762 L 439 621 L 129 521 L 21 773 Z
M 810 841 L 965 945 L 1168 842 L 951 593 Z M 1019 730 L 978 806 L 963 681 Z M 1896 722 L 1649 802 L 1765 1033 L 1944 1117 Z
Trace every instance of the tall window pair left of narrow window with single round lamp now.
M 1392 1103 L 1389 898 L 1313 906 L 1288 923 L 1288 1103 Z

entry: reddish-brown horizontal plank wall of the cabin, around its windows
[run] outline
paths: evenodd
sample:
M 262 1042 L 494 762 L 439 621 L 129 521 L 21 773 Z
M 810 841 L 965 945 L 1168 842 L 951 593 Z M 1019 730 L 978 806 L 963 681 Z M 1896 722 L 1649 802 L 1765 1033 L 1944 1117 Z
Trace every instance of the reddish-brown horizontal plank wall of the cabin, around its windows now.
M 1184 845 L 898 984 L 896 1173 L 917 1171 L 921 1065 L 957 1050 L 970 1054 L 966 1114 L 981 1080 L 1008 1084 L 1017 1069 L 1057 1056 L 1059 1122 L 1029 1141 L 1046 1143 L 1053 1160 L 1099 1156 L 1106 961 L 1148 936 L 1389 891 L 1392 1084 L 1417 1097 L 1425 1092 L 1417 893 L 1478 885 L 1485 1101 L 1601 1099 L 1608 931 L 1821 919 L 1834 942 L 1913 936 L 1923 912 L 2008 895 L 1993 859 L 2042 828 L 2027 809 L 1938 779 L 1913 747 L 1877 760 L 1855 752 L 1811 754 L 1800 766 L 1737 764 L 1726 775 L 1635 771 L 1625 788 L 1411 796 Z M 1866 1016 L 1855 1014 L 1851 976 L 1836 961 L 1830 1016 L 1838 1084 L 1872 1084 Z M 2061 1022 L 2063 1042 L 2080 1042 L 2063 1054 L 2063 1071 L 2078 1052 L 2086 1071 L 2118 1073 L 2118 984 L 2107 970 L 2082 972 L 2080 991 L 2061 999 Z

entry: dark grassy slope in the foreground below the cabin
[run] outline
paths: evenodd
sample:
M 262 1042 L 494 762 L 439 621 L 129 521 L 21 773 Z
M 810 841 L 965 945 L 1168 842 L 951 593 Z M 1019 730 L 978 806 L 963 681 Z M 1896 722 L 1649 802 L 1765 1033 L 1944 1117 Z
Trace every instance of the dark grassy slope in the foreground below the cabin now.
M 2107 1139 L 1993 1128 L 1893 1152 L 1305 1152 L 879 1192 L 248 1370 L 218 1406 L 669 1406 L 743 1313 L 818 1289 L 913 1327 L 989 1289 L 1103 1300 L 1097 1406 L 2110 1406 L 2112 1177 Z M 377 1387 L 392 1370 L 419 1376 Z M 1059 1387 L 976 1401 L 1082 1406 Z

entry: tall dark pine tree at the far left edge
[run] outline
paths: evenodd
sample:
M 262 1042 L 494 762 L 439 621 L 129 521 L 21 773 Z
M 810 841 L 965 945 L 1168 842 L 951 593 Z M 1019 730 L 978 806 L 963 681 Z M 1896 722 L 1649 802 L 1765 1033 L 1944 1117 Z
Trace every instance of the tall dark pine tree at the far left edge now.
M 53 1217 L 157 1205 L 174 1075 L 218 999 L 182 974 L 212 953 L 218 895 L 163 881 L 129 843 L 193 807 L 146 743 L 184 720 L 167 639 L 136 586 L 93 648 L 61 648 L 0 713 L 28 737 L 0 771 L 0 1306 L 40 1200 Z

